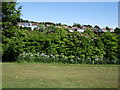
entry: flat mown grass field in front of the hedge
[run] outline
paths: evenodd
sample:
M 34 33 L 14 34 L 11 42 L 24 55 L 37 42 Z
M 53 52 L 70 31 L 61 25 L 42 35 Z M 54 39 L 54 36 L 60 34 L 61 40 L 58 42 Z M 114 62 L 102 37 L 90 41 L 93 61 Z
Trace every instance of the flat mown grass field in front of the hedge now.
M 3 63 L 3 88 L 117 88 L 117 65 Z

